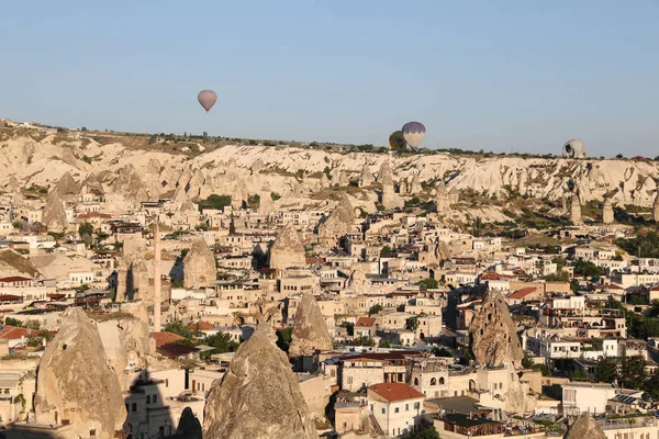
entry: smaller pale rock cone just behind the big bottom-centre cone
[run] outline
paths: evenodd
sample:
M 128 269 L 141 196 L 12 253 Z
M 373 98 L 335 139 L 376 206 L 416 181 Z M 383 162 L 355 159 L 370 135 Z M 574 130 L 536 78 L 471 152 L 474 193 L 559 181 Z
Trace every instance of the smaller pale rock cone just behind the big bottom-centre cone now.
M 295 312 L 289 357 L 308 354 L 315 349 L 332 350 L 332 336 L 319 304 L 312 294 L 304 294 Z

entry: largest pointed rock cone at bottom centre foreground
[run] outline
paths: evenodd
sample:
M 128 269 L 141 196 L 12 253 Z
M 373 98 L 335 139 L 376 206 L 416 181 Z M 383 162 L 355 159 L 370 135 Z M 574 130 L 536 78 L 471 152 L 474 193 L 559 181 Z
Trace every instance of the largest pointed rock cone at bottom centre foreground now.
M 259 325 L 238 348 L 204 408 L 212 439 L 317 439 L 300 385 L 269 326 Z

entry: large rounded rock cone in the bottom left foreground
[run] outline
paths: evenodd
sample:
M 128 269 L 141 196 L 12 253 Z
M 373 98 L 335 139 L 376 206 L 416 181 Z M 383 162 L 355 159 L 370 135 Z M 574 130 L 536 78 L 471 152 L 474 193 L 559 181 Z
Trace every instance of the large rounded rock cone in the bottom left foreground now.
M 126 408 L 99 331 L 81 308 L 68 308 L 63 318 L 40 363 L 36 421 L 68 421 L 72 428 L 66 438 L 87 438 L 92 430 L 99 439 L 114 438 L 123 428 Z

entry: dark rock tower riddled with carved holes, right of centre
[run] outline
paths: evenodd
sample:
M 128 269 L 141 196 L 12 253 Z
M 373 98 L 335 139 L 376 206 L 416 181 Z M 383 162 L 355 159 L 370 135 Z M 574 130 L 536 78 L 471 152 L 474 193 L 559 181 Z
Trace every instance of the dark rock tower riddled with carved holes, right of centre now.
M 487 368 L 522 367 L 524 351 L 507 304 L 501 293 L 490 290 L 469 325 L 471 350 L 478 364 Z

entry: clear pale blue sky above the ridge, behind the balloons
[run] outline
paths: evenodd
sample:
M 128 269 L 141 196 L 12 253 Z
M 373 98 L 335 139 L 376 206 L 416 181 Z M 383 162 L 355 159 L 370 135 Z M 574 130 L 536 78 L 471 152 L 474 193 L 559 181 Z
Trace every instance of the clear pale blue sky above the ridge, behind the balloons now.
M 417 120 L 432 148 L 655 157 L 657 23 L 657 0 L 18 1 L 0 117 L 376 145 Z

